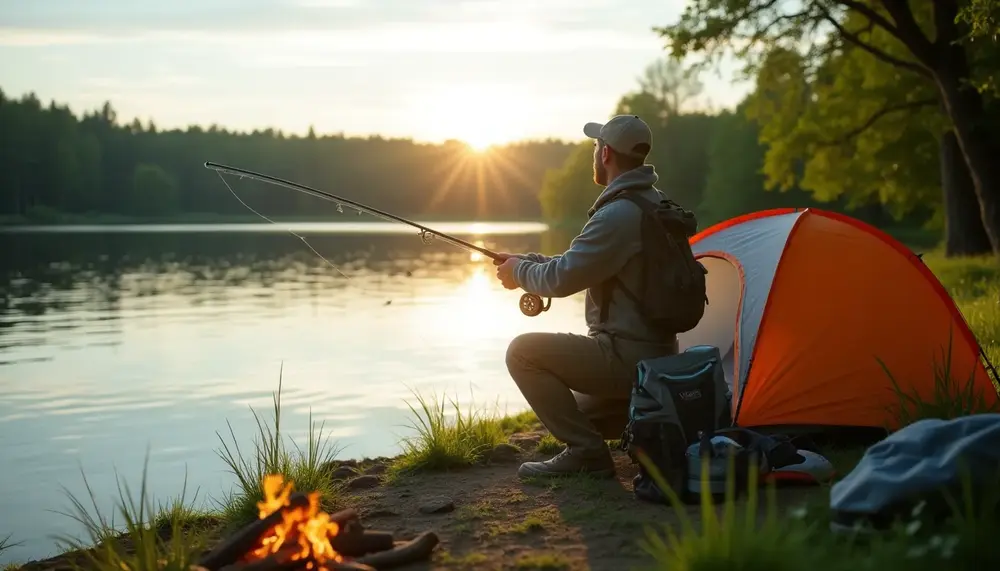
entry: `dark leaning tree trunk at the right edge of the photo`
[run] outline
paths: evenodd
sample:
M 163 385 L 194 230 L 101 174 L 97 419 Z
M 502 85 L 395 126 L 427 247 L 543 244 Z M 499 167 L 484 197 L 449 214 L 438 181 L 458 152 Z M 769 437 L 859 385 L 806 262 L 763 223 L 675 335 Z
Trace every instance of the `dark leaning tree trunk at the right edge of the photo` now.
M 962 49 L 950 49 L 934 70 L 941 100 L 951 118 L 959 148 L 979 199 L 980 218 L 993 252 L 1000 254 L 1000 145 L 997 144 L 983 98 L 963 85 L 969 65 Z

